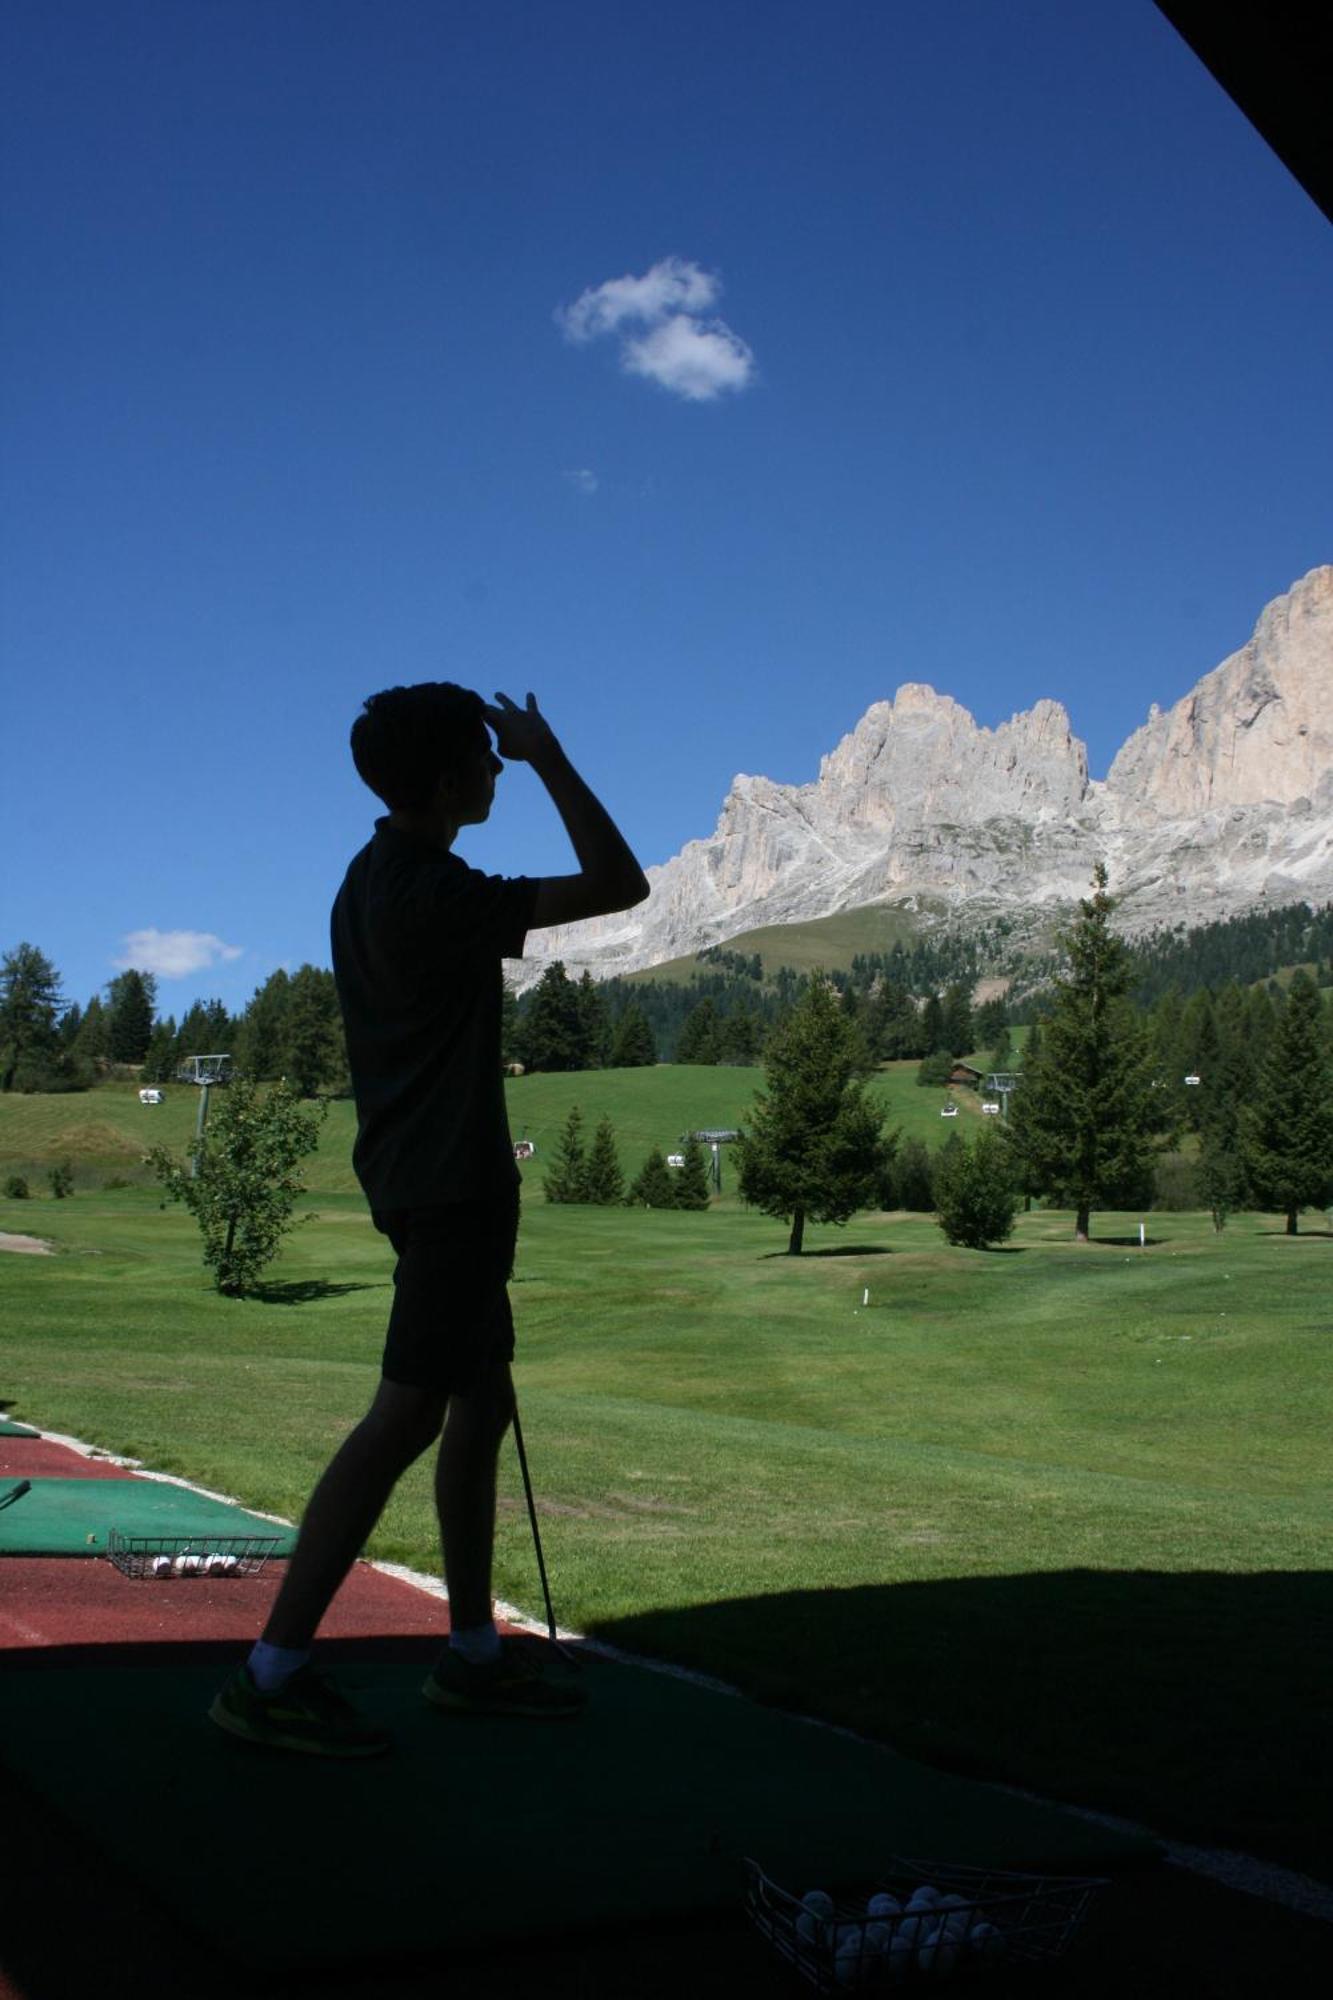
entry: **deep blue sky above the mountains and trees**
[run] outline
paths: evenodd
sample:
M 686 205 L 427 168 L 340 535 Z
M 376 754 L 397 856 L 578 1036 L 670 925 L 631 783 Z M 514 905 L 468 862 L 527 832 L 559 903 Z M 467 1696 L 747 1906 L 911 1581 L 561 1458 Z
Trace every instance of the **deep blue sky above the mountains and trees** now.
M 1149 0 L 2 34 L 0 948 L 80 1002 L 328 962 L 374 688 L 534 688 L 654 862 L 905 680 L 1101 776 L 1333 558 L 1333 238 Z M 568 866 L 524 770 L 462 852 Z

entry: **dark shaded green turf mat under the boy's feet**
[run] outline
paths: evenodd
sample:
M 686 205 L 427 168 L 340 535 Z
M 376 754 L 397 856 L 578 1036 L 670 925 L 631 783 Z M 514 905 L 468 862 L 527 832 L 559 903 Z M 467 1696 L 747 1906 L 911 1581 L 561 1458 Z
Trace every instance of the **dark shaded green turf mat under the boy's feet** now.
M 739 1908 L 747 1854 L 799 1892 L 895 1852 L 1061 1874 L 1157 1856 L 644 1668 L 592 1662 L 572 1722 L 442 1716 L 422 1672 L 340 1674 L 394 1732 L 356 1764 L 236 1742 L 206 1720 L 218 1670 L 164 1666 L 10 1674 L 0 1754 L 216 1950 L 268 1968 Z

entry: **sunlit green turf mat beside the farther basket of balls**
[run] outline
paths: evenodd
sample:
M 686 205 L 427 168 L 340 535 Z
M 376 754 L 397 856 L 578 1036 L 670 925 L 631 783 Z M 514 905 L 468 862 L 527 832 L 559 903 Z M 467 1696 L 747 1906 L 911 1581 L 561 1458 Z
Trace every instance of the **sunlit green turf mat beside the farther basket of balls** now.
M 0 1510 L 0 1556 L 104 1556 L 112 1528 L 126 1536 L 196 1540 L 208 1548 L 220 1536 L 272 1536 L 284 1556 L 294 1528 L 246 1514 L 160 1480 L 32 1480 L 32 1490 Z M 212 1542 L 210 1542 L 212 1538 Z

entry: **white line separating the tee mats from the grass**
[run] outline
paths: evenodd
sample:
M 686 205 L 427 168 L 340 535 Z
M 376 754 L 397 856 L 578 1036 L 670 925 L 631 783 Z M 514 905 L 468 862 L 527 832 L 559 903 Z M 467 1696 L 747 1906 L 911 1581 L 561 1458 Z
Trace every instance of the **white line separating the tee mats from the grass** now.
M 38 1426 L 32 1426 L 38 1428 Z M 144 1480 L 158 1480 L 162 1486 L 182 1486 L 186 1492 L 200 1494 L 204 1500 L 222 1500 L 228 1506 L 240 1506 L 246 1514 L 254 1514 L 256 1520 L 270 1520 L 278 1528 L 294 1528 L 296 1524 L 286 1520 L 282 1514 L 262 1514 L 258 1508 L 250 1508 L 236 1494 L 218 1494 L 208 1486 L 196 1486 L 194 1480 L 182 1480 L 174 1472 L 150 1472 L 138 1458 L 120 1458 L 116 1452 L 104 1452 L 96 1444 L 84 1444 L 82 1438 L 66 1438 L 58 1430 L 42 1430 L 42 1438 L 52 1444 L 64 1444 L 80 1458 L 100 1458 L 112 1466 L 124 1466 Z M 448 1604 L 448 1590 L 436 1576 L 426 1576 L 420 1570 L 410 1570 L 402 1562 L 370 1562 L 368 1568 L 378 1570 L 382 1576 L 392 1576 L 396 1582 L 410 1584 L 414 1590 L 422 1590 L 430 1598 L 438 1598 Z M 536 1618 L 528 1618 L 514 1604 L 504 1604 L 496 1598 L 496 1616 L 514 1626 L 518 1632 L 532 1632 L 540 1638 L 546 1636 L 546 1626 Z M 602 1660 L 614 1660 L 620 1666 L 640 1666 L 650 1674 L 666 1674 L 673 1680 L 687 1680 L 695 1688 L 709 1688 L 713 1694 L 729 1694 L 735 1700 L 743 1700 L 741 1688 L 735 1688 L 727 1680 L 717 1680 L 713 1674 L 699 1674 L 689 1666 L 673 1666 L 671 1660 L 650 1660 L 646 1654 L 624 1652 L 620 1646 L 606 1646 L 602 1640 L 584 1638 L 582 1632 L 566 1632 L 556 1626 L 556 1638 L 568 1646 L 580 1646 L 584 1652 L 596 1654 Z M 785 1710 L 775 1710 L 785 1714 Z M 893 1750 L 893 1744 L 875 1742 L 871 1736 L 861 1736 L 859 1730 L 843 1728 L 837 1722 L 821 1722 L 819 1716 L 787 1716 L 789 1722 L 805 1722 L 817 1730 L 829 1730 L 833 1736 L 849 1736 L 853 1742 L 867 1744 L 871 1750 Z M 1315 1876 L 1301 1874 L 1295 1868 L 1281 1868 L 1277 1862 L 1259 1860 L 1253 1854 L 1239 1854 L 1235 1848 L 1197 1848 L 1183 1840 L 1167 1840 L 1165 1834 L 1153 1832 L 1151 1826 L 1139 1826 L 1135 1820 L 1121 1820 L 1111 1812 L 1097 1812 L 1093 1806 L 1073 1806 L 1063 1798 L 1045 1798 L 1041 1792 L 1027 1792 L 1017 1784 L 997 1784 L 987 1778 L 969 1778 L 969 1784 L 985 1784 L 991 1792 L 1005 1792 L 1011 1798 L 1023 1798 L 1035 1806 L 1049 1806 L 1055 1812 L 1071 1812 L 1077 1820 L 1093 1820 L 1097 1826 L 1109 1826 L 1119 1834 L 1137 1834 L 1143 1840 L 1155 1840 L 1157 1846 L 1167 1856 L 1169 1866 L 1183 1868 L 1187 1874 L 1207 1876 L 1211 1882 L 1219 1882 L 1223 1888 L 1237 1890 L 1243 1896 L 1257 1896 L 1261 1902 L 1275 1902 L 1283 1910 L 1293 1910 L 1299 1916 L 1313 1916 L 1319 1922 L 1333 1924 L 1333 1884 L 1319 1882 Z

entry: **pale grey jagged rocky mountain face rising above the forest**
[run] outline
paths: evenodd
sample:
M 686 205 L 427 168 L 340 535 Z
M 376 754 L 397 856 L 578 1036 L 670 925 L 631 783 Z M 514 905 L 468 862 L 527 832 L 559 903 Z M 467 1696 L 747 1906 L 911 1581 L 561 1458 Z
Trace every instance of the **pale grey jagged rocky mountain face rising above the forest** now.
M 1127 922 L 1209 922 L 1333 896 L 1333 566 L 1263 612 L 1241 652 L 1153 714 L 1105 784 L 1059 702 L 995 730 L 933 688 L 875 702 L 815 784 L 739 776 L 709 840 L 624 916 L 534 936 L 518 984 L 562 958 L 598 976 L 925 896 L 955 912 L 1071 904 L 1105 860 Z

